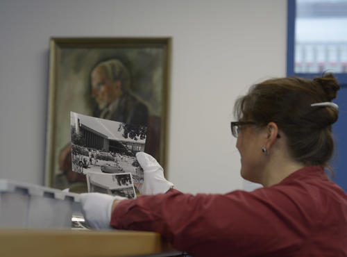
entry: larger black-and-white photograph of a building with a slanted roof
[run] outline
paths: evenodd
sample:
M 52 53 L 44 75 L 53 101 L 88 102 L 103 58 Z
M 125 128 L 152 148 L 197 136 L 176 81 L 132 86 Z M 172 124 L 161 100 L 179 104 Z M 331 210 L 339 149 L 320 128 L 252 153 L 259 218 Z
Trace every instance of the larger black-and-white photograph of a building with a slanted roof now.
M 71 163 L 78 174 L 130 173 L 143 182 L 136 153 L 144 151 L 146 126 L 101 119 L 71 112 Z

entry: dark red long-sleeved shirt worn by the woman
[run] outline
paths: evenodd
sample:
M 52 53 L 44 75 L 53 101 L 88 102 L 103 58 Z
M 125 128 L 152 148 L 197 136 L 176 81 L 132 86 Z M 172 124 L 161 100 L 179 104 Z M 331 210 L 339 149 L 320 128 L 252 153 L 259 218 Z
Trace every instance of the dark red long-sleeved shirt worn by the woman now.
M 347 195 L 319 166 L 253 192 L 124 200 L 110 225 L 157 231 L 192 256 L 347 256 Z

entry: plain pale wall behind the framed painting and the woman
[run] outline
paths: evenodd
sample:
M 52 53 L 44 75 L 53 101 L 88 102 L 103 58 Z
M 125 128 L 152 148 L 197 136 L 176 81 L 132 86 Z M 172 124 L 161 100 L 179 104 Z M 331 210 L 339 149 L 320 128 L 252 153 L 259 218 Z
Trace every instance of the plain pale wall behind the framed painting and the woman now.
M 44 183 L 49 38 L 172 37 L 169 180 L 242 188 L 230 135 L 249 85 L 285 76 L 286 0 L 0 0 L 0 178 Z

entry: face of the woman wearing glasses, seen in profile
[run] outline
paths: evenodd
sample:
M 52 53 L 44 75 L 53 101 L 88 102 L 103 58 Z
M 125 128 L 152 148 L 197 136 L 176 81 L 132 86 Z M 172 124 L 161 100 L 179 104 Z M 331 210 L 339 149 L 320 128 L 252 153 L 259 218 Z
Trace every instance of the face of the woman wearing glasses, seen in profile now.
M 241 156 L 241 176 L 255 183 L 260 183 L 264 167 L 264 154 L 260 130 L 253 125 L 242 126 L 236 147 Z

